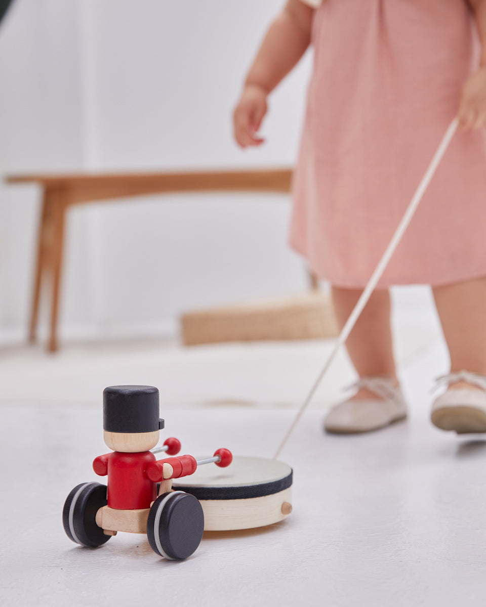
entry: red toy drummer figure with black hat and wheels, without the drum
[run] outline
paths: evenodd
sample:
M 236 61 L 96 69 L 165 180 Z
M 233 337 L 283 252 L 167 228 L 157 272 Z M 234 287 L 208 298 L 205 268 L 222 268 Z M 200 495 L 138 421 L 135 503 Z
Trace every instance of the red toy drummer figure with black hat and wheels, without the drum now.
M 218 449 L 212 458 L 196 461 L 180 455 L 180 442 L 166 439 L 173 457 L 157 460 L 150 451 L 164 427 L 159 418 L 159 390 L 148 385 L 115 385 L 103 391 L 103 438 L 113 449 L 95 458 L 93 469 L 108 475 L 108 488 L 81 483 L 67 496 L 63 526 L 82 546 L 101 546 L 118 531 L 147 534 L 154 552 L 169 559 L 187 558 L 197 549 L 204 531 L 204 513 L 194 495 L 171 491 L 172 479 L 193 474 L 198 464 L 225 467 L 231 452 Z M 157 483 L 160 483 L 157 497 Z

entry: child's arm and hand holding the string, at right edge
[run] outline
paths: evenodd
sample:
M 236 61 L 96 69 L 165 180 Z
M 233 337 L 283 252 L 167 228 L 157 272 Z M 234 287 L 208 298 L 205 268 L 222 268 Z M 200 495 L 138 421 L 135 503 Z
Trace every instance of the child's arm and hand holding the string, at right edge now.
M 482 52 L 479 69 L 468 78 L 462 89 L 459 124 L 463 129 L 486 126 L 486 0 L 468 0 L 476 16 Z

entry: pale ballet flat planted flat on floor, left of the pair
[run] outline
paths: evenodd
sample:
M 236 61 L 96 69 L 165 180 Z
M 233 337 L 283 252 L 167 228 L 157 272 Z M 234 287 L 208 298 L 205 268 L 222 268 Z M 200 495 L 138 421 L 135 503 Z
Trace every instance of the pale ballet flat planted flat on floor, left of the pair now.
M 358 379 L 350 388 L 368 388 L 377 399 L 340 402 L 324 418 L 324 430 L 334 434 L 357 434 L 389 426 L 406 418 L 402 390 L 392 379 L 371 377 Z

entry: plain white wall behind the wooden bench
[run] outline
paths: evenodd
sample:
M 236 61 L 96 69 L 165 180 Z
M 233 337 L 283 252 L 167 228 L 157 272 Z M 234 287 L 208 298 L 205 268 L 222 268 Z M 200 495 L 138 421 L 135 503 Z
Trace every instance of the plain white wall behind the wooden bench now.
M 281 84 L 267 143 L 231 111 L 282 0 L 16 0 L 0 26 L 0 172 L 293 164 L 312 56 Z M 174 328 L 182 310 L 306 288 L 286 197 L 140 198 L 75 209 L 61 333 Z M 39 192 L 0 185 L 0 336 L 26 331 Z M 44 318 L 46 310 L 44 310 Z

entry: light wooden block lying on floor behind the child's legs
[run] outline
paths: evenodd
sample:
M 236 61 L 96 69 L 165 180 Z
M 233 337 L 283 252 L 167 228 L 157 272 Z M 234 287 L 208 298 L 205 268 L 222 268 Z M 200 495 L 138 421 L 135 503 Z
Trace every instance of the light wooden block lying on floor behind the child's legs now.
M 330 298 L 320 291 L 191 312 L 181 317 L 181 325 L 185 345 L 338 334 Z

